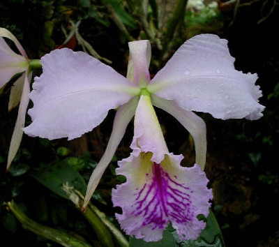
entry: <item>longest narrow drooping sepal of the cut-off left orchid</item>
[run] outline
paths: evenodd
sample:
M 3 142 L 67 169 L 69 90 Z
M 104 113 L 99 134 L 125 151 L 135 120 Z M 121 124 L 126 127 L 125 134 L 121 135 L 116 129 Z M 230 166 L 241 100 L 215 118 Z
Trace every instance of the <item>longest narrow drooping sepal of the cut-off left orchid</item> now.
M 15 129 L 13 130 L 12 139 L 10 140 L 10 149 L 8 152 L 8 162 L 7 162 L 7 170 L 10 167 L 10 164 L 15 158 L 17 154 L 17 150 L 20 147 L 20 142 L 22 141 L 22 128 L 25 123 L 25 115 L 27 112 L 27 107 L 29 103 L 29 92 L 30 92 L 30 80 L 32 77 L 32 73 L 27 75 L 27 71 L 24 73 L 24 85 L 22 89 L 22 97 L 20 100 L 20 107 L 18 109 L 17 121 L 15 122 Z

